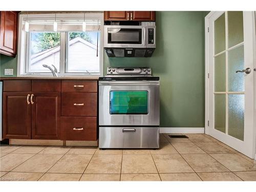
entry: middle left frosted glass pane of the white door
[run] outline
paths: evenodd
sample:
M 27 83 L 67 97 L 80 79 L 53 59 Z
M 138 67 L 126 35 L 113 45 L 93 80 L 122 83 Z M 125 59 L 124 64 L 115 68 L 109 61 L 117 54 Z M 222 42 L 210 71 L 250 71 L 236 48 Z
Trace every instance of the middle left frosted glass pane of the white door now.
M 215 92 L 226 91 L 226 54 L 223 53 L 215 57 L 214 62 L 214 79 L 215 79 Z

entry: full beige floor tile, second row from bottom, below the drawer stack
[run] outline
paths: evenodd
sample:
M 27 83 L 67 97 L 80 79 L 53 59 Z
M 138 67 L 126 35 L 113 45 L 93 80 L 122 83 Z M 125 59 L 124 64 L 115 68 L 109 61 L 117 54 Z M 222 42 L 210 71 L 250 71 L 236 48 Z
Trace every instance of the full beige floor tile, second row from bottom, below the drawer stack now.
M 93 155 L 65 155 L 48 170 L 48 173 L 82 174 L 92 156 Z

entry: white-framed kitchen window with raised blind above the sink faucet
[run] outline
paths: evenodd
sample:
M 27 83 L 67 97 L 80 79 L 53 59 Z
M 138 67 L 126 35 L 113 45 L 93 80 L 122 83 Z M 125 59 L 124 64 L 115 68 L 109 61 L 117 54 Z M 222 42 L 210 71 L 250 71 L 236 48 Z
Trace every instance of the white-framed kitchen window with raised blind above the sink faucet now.
M 18 75 L 101 76 L 102 27 L 103 13 L 20 14 Z

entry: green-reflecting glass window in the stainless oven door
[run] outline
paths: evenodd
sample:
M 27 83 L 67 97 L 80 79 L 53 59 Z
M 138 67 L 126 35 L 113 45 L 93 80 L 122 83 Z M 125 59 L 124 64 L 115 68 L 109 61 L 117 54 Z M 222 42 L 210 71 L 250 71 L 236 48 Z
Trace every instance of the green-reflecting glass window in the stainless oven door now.
M 148 114 L 148 92 L 110 91 L 110 114 Z

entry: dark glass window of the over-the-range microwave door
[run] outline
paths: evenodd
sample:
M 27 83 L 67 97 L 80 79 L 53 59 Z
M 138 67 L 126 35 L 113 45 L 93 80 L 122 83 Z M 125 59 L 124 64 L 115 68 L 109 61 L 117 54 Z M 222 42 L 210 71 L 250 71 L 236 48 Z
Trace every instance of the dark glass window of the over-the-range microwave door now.
M 108 29 L 109 44 L 141 44 L 142 29 Z

